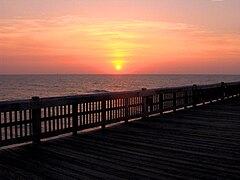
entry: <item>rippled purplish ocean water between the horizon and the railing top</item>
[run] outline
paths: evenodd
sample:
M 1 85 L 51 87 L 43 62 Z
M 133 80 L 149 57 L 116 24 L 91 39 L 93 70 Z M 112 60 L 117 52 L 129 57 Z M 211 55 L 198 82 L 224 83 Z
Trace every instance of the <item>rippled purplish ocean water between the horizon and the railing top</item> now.
M 240 75 L 0 75 L 0 101 L 240 81 Z

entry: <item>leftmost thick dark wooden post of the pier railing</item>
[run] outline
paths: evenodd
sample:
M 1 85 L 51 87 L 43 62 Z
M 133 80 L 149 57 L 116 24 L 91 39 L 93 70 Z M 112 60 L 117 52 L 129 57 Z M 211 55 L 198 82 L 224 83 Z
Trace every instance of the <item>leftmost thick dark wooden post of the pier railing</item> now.
M 33 143 L 40 143 L 41 136 L 41 108 L 39 107 L 39 97 L 32 97 L 32 124 L 33 124 Z

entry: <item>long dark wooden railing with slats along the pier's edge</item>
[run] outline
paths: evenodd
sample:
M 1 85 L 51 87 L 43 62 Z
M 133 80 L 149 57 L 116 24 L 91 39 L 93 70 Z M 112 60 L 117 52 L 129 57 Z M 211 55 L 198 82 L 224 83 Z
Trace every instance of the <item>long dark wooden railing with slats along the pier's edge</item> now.
M 0 102 L 0 146 L 239 96 L 240 82 Z

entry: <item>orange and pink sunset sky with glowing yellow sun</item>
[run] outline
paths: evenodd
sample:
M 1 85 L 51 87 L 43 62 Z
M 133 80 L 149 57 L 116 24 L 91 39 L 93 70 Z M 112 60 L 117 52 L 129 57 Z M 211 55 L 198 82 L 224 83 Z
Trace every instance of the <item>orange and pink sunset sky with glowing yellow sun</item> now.
M 240 74 L 240 0 L 0 0 L 0 74 Z

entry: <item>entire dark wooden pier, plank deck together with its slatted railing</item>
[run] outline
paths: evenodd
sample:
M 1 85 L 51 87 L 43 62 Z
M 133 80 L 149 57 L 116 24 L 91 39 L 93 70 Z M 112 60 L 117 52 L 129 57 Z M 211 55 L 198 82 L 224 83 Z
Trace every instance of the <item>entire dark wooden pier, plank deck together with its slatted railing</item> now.
M 0 102 L 0 176 L 239 179 L 239 95 L 234 82 Z

